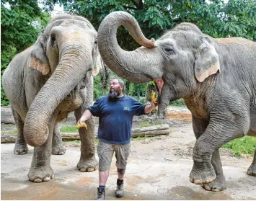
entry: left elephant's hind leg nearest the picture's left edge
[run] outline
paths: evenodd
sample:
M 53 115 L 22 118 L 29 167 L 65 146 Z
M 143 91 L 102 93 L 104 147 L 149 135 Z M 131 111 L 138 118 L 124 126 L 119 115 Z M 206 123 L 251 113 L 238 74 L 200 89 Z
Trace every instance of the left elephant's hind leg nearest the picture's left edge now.
M 15 125 L 17 128 L 17 137 L 15 140 L 14 153 L 17 155 L 22 155 L 27 153 L 27 143 L 24 139 L 23 135 L 23 126 L 24 122 L 22 118 L 19 116 L 18 112 L 12 108 L 12 115 L 14 117 Z

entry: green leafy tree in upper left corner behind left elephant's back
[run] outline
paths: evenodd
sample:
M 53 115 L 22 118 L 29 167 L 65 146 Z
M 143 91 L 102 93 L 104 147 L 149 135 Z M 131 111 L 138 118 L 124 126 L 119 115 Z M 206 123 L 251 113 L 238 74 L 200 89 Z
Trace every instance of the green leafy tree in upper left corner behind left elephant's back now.
M 50 16 L 37 1 L 1 0 L 1 76 L 14 55 L 35 42 Z M 1 86 L 1 105 L 9 104 Z

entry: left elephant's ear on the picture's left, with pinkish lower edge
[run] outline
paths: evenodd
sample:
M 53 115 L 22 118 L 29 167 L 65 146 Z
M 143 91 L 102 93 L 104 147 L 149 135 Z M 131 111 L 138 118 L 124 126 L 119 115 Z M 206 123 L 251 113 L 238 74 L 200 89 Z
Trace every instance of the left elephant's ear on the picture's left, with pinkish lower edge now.
M 37 38 L 37 41 L 32 46 L 29 65 L 30 68 L 34 68 L 37 71 L 40 71 L 43 75 L 47 75 L 50 72 L 50 65 L 43 48 L 41 38 L 42 34 Z

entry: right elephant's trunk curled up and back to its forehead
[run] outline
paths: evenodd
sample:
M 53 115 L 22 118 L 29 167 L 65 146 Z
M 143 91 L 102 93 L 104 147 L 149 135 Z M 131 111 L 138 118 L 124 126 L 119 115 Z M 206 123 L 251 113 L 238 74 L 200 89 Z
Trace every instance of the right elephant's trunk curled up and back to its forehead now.
M 116 38 L 118 27 L 128 29 L 134 40 L 144 47 L 131 52 L 118 45 Z M 98 30 L 98 47 L 103 61 L 118 76 L 135 83 L 144 83 L 162 77 L 159 68 L 159 51 L 156 51 L 154 39 L 147 40 L 131 14 L 112 12 L 103 19 Z

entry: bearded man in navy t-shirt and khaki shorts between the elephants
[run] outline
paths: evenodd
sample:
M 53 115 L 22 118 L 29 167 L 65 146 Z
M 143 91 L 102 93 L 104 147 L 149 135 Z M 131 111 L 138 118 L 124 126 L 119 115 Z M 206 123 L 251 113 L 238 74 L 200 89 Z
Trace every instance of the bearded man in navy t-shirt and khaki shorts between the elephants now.
M 96 116 L 99 119 L 97 153 L 99 156 L 99 187 L 97 200 L 105 200 L 105 185 L 110 174 L 110 165 L 115 152 L 118 171 L 115 196 L 124 195 L 123 178 L 129 153 L 131 152 L 131 127 L 134 115 L 144 115 L 156 108 L 156 104 L 141 104 L 133 97 L 123 94 L 124 84 L 121 79 L 112 79 L 110 93 L 100 97 L 81 116 L 78 124 Z M 81 128 L 80 128 L 81 129 Z

